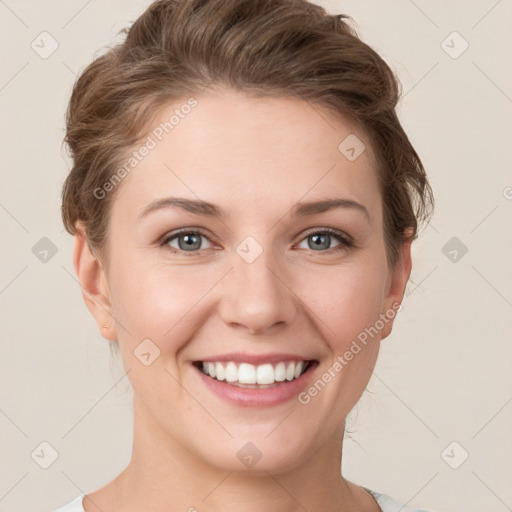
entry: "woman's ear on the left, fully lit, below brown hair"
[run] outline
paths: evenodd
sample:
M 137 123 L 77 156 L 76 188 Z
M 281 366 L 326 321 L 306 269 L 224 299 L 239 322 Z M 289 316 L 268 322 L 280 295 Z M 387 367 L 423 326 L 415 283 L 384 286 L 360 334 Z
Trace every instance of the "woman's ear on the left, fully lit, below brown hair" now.
M 85 233 L 82 225 L 77 226 L 73 266 L 82 289 L 84 302 L 96 320 L 101 335 L 107 340 L 116 341 L 117 330 L 112 316 L 106 275 L 101 261 L 91 251 Z

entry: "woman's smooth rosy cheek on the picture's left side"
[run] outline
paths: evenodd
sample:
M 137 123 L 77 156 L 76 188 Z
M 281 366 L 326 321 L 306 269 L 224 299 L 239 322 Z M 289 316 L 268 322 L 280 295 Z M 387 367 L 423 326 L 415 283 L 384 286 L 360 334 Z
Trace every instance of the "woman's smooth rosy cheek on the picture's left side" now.
M 205 320 L 201 298 L 218 278 L 206 267 L 172 268 L 150 260 L 118 260 L 111 289 L 113 313 L 123 326 L 118 328 L 123 366 L 134 390 L 157 410 L 180 393 L 180 350 Z

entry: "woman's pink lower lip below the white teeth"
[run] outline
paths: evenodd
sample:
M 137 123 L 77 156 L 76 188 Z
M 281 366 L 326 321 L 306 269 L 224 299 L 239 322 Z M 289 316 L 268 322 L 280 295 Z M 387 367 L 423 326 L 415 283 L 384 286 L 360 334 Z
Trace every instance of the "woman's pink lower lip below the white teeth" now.
M 219 381 L 204 374 L 199 368 L 194 369 L 199 373 L 202 381 L 210 391 L 223 400 L 239 407 L 272 407 L 282 404 L 296 397 L 307 385 L 317 363 L 310 363 L 308 369 L 298 378 L 291 381 L 278 382 L 271 388 L 240 388 Z

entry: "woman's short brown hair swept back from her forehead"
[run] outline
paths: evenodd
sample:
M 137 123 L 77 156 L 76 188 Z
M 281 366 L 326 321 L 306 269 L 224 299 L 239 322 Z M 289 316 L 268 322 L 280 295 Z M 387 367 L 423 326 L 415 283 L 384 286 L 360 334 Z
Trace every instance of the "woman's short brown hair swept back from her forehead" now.
M 364 129 L 378 161 L 394 267 L 400 245 L 428 220 L 434 197 L 395 112 L 400 83 L 347 19 L 306 0 L 151 4 L 74 85 L 65 137 L 73 168 L 62 193 L 67 231 L 74 234 L 81 221 L 90 246 L 101 249 L 115 191 L 98 200 L 94 190 L 113 176 L 158 107 L 218 84 L 252 96 L 296 97 Z

